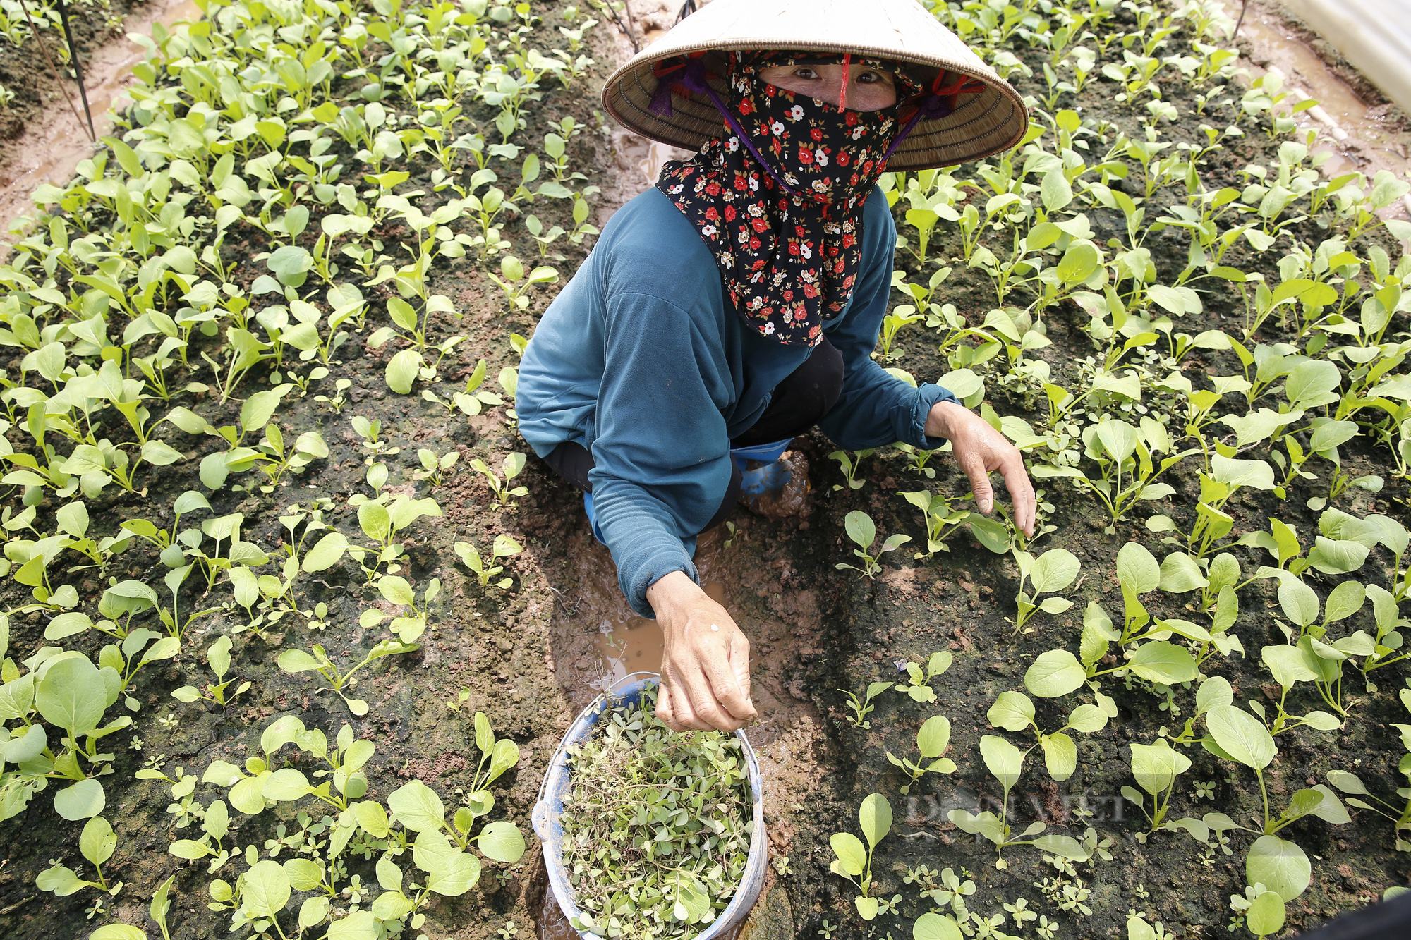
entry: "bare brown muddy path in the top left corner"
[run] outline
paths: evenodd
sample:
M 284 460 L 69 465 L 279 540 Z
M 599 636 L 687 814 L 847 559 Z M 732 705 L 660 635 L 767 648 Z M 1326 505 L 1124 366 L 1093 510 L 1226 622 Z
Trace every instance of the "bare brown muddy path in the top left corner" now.
M 161 23 L 171 28 L 178 21 L 200 20 L 200 8 L 192 0 L 152 0 L 141 13 L 134 13 L 123 23 L 124 34 L 151 35 L 152 25 Z M 145 49 L 131 40 L 121 38 L 97 49 L 83 66 L 89 107 L 93 113 L 93 127 L 99 137 L 113 133 L 114 110 L 130 104 L 126 95 L 133 82 L 133 66 L 143 61 Z M 66 82 L 72 92 L 73 106 L 82 113 L 78 86 Z M 0 165 L 0 223 L 10 227 L 11 220 L 34 215 L 30 195 L 42 183 L 63 185 L 73 178 L 80 161 L 93 155 L 86 123 L 79 123 L 69 104 L 51 102 L 44 116 L 25 128 L 17 140 L 6 147 L 6 162 Z M 0 258 L 7 254 L 14 239 L 7 234 L 0 239 Z

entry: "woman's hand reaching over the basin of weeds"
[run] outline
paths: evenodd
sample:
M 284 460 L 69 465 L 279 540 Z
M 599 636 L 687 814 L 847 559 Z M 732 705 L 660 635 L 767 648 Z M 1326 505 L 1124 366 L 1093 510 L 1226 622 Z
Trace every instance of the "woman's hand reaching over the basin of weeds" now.
M 646 601 L 665 641 L 656 717 L 673 731 L 735 731 L 753 718 L 749 639 L 725 608 L 684 572 L 648 587 Z

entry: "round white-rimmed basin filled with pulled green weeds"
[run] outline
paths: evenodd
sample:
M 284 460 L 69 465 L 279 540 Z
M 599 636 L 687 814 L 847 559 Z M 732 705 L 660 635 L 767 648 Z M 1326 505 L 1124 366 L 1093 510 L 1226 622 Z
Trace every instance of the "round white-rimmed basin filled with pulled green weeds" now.
M 753 908 L 768 840 L 744 733 L 677 734 L 656 676 L 618 683 L 570 727 L 535 807 L 550 891 L 598 937 L 718 937 Z

